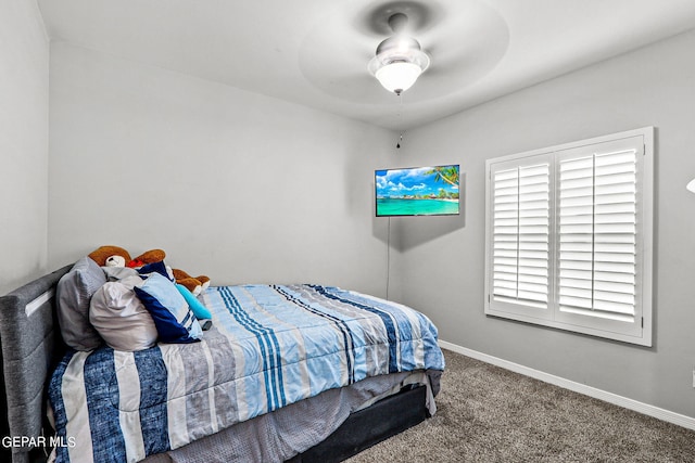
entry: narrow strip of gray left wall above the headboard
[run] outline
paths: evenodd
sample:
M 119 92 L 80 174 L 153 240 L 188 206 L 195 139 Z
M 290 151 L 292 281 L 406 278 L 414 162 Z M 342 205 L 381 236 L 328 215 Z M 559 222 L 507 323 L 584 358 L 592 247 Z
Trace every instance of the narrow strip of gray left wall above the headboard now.
M 36 2 L 0 2 L 0 295 L 46 271 L 48 56 Z

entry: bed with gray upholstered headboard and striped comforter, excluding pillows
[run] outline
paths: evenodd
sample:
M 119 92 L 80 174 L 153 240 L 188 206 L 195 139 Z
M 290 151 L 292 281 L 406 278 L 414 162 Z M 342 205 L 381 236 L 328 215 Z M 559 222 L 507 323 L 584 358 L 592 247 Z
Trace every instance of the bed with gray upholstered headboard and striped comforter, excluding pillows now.
M 56 319 L 73 268 L 0 298 L 3 461 L 338 462 L 435 411 L 437 329 L 407 307 L 216 286 L 198 297 L 212 312 L 201 340 L 85 352 Z

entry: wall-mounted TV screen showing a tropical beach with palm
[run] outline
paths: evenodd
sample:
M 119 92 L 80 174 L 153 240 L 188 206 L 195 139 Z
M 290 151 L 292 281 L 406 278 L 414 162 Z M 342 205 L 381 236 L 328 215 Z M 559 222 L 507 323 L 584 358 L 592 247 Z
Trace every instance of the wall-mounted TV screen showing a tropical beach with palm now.
M 377 170 L 377 217 L 456 215 L 458 184 L 458 165 Z

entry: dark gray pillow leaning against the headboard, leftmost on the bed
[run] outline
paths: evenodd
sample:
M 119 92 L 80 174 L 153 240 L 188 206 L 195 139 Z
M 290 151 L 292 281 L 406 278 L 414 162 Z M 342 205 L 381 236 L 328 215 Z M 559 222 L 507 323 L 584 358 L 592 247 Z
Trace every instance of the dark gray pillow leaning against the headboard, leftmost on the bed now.
M 58 282 L 58 323 L 63 340 L 76 350 L 93 350 L 103 344 L 89 323 L 91 296 L 106 283 L 101 267 L 85 256 Z

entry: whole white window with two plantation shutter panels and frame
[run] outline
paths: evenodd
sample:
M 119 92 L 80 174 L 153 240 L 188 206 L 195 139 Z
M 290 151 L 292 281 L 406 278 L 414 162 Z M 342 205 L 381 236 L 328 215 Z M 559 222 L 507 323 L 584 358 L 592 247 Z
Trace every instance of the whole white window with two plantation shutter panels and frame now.
M 652 345 L 654 129 L 489 159 L 485 313 Z

